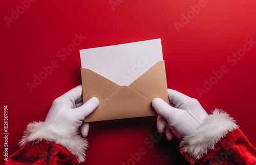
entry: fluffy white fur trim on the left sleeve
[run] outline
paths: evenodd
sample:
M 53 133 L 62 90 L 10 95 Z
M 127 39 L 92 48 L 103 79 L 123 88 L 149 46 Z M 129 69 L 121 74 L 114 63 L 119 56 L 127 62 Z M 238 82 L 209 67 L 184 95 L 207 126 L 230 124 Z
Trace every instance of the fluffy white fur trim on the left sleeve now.
M 56 122 L 33 122 L 28 124 L 19 146 L 22 147 L 28 142 L 40 140 L 54 141 L 67 148 L 75 155 L 79 162 L 85 160 L 88 142 L 83 139 L 73 128 L 63 126 Z

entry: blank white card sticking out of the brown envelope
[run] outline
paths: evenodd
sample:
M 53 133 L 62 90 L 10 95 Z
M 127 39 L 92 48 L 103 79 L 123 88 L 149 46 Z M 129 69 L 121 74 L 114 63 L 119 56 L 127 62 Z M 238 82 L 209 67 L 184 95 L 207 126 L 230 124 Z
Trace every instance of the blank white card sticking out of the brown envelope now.
M 120 86 L 129 86 L 163 60 L 161 39 L 80 50 L 82 68 L 90 69 Z

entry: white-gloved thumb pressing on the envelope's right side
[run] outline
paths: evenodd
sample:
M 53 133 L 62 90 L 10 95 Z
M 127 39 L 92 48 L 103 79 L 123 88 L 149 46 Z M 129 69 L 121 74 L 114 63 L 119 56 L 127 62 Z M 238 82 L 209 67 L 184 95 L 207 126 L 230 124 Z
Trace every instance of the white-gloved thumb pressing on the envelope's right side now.
M 158 115 L 161 115 L 169 124 L 173 123 L 175 118 L 184 116 L 184 110 L 174 108 L 160 98 L 155 98 L 152 105 Z

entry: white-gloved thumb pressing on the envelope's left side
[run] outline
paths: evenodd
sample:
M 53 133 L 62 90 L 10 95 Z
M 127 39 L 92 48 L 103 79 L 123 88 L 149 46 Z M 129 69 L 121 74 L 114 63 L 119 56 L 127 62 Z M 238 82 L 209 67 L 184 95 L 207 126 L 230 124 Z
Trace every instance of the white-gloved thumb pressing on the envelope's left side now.
M 90 98 L 86 103 L 82 104 L 81 106 L 75 108 L 76 116 L 80 120 L 84 120 L 88 117 L 94 109 L 99 105 L 99 99 L 97 97 Z

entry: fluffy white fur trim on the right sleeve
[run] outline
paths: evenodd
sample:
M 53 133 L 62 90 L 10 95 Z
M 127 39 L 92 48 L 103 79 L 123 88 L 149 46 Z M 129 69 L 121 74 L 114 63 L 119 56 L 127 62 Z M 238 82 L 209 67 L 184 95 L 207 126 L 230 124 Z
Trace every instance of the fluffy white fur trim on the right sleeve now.
M 180 143 L 180 151 L 190 163 L 194 164 L 209 149 L 214 149 L 222 137 L 238 127 L 236 121 L 227 113 L 215 109 L 195 132 L 183 139 Z

